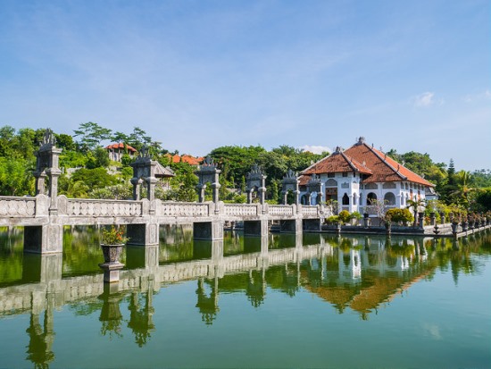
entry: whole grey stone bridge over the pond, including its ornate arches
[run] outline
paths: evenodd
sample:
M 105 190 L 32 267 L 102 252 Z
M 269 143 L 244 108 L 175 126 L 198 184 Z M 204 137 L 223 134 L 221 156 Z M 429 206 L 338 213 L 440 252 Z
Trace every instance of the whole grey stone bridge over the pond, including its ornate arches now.
M 222 239 L 225 222 L 244 222 L 245 235 L 264 236 L 268 234 L 270 222 L 279 222 L 280 231 L 285 232 L 319 231 L 327 211 L 321 205 L 300 205 L 298 180 L 292 171 L 287 172 L 282 182 L 284 205 L 267 204 L 264 197 L 266 176 L 257 165 L 247 175 L 248 204 L 225 204 L 219 199 L 221 171 L 210 158 L 196 171 L 199 202 L 162 202 L 154 198 L 155 184 L 157 177 L 166 171 L 151 160 L 145 148 L 131 164 L 132 200 L 58 196 L 61 174 L 58 162 L 62 150 L 54 145 L 53 132 L 46 130 L 37 151 L 35 197 L 0 197 L 0 226 L 24 227 L 26 252 L 62 252 L 62 228 L 65 225 L 126 224 L 129 244 L 152 246 L 159 243 L 161 224 L 193 223 L 195 239 Z M 212 189 L 212 201 L 205 202 L 204 193 L 208 186 Z M 142 187 L 146 188 L 146 198 L 140 199 Z M 257 193 L 257 203 L 254 203 L 254 193 Z M 288 193 L 295 196 L 293 205 L 287 205 Z

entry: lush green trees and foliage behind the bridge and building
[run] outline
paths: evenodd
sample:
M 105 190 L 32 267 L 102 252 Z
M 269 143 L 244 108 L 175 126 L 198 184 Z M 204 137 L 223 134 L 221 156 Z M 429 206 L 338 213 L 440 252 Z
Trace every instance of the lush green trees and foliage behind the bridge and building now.
M 0 127 L 0 195 L 24 196 L 34 194 L 35 179 L 32 172 L 36 165 L 36 150 L 42 141 L 45 129 L 11 126 Z M 155 141 L 145 130 L 134 127 L 129 133 L 106 129 L 96 122 L 84 122 L 74 130 L 73 136 L 54 133 L 56 146 L 62 148 L 59 179 L 59 194 L 67 197 L 128 198 L 131 197 L 132 177 L 128 153 L 121 163 L 109 162 L 103 143 L 122 142 L 137 150 L 146 146 L 154 160 L 170 165 L 176 173 L 169 189 L 156 189 L 156 197 L 162 200 L 196 201 L 196 168 L 186 163 L 171 163 L 168 150 Z M 177 153 L 177 150 L 174 151 Z M 205 154 L 205 153 L 203 153 Z M 223 201 L 245 201 L 245 179 L 254 164 L 266 175 L 266 199 L 276 204 L 281 198 L 281 180 L 287 170 L 300 172 L 324 155 L 283 145 L 267 150 L 261 146 L 225 146 L 212 149 L 209 155 L 221 169 L 220 197 Z M 448 214 L 455 211 L 485 212 L 491 210 L 491 171 L 479 169 L 474 172 L 458 171 L 454 161 L 449 164 L 434 163 L 428 154 L 409 152 L 399 154 L 395 149 L 387 155 L 404 164 L 413 172 L 435 183 L 441 199 L 439 205 Z M 211 198 L 211 192 L 207 192 Z M 331 204 L 333 209 L 337 205 Z M 408 204 L 412 211 L 414 206 Z M 420 206 L 420 205 L 418 205 Z M 446 207 L 445 207 L 446 206 Z M 440 210 L 438 210 L 440 211 Z

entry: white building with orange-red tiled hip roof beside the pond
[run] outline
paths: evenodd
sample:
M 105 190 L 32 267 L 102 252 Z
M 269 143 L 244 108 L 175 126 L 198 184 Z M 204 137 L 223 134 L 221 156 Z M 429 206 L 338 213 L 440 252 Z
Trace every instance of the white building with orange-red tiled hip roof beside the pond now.
M 364 138 L 346 150 L 336 151 L 301 172 L 303 204 L 337 201 L 338 210 L 373 213 L 372 200 L 387 207 L 404 208 L 408 200 L 425 199 L 434 185 L 365 143 Z M 315 186 L 314 186 L 315 184 Z M 312 189 L 316 189 L 312 191 Z M 371 208 L 372 209 L 372 208 Z

